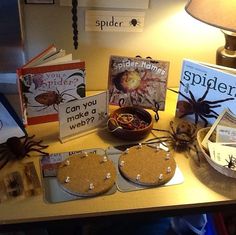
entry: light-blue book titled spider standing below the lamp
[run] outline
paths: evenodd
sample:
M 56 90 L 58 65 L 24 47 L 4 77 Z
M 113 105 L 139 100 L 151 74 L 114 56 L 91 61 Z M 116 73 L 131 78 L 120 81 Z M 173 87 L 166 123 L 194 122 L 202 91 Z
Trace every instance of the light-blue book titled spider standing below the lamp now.
M 212 125 L 225 108 L 236 113 L 236 70 L 185 59 L 176 116 Z

